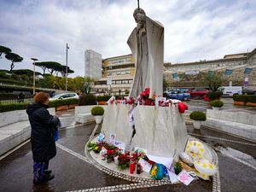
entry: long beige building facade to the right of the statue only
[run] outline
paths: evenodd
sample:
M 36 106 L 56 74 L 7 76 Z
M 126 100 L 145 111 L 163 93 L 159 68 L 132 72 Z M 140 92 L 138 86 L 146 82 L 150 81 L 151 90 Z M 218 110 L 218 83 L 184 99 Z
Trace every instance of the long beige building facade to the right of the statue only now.
M 252 69 L 250 74 L 244 74 L 246 68 Z M 225 75 L 227 69 L 232 70 L 231 75 Z M 182 64 L 166 63 L 164 77 L 172 87 L 198 87 L 202 84 L 202 73 L 215 71 L 224 75 L 225 84 L 232 81 L 232 85 L 242 86 L 248 80 L 250 87 L 256 88 L 256 49 L 248 53 L 224 55 L 223 59 L 212 61 L 196 61 Z M 177 73 L 178 79 L 174 73 Z M 174 77 L 173 77 L 174 76 Z

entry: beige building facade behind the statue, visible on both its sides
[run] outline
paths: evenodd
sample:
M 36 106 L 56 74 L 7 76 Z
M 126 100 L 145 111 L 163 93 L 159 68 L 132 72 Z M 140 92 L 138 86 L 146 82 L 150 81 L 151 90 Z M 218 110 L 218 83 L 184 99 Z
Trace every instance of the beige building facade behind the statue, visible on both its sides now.
M 244 74 L 246 68 L 252 72 Z M 229 76 L 226 69 L 232 70 Z M 245 79 L 247 86 L 256 89 L 256 49 L 248 53 L 224 55 L 224 58 L 212 61 L 195 61 L 182 64 L 164 64 L 164 79 L 172 87 L 205 87 L 202 84 L 202 73 L 215 71 L 222 73 L 226 79 L 224 85 L 242 86 Z M 177 73 L 178 80 L 173 78 Z M 95 83 L 96 95 L 128 95 L 135 75 L 135 59 L 130 55 L 120 55 L 102 60 L 102 78 Z M 108 84 L 109 83 L 109 84 Z

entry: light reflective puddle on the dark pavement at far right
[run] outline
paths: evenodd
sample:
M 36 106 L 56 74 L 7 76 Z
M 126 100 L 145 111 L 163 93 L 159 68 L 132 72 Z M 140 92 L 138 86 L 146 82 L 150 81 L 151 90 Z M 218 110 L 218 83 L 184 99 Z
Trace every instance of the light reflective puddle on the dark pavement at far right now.
M 247 163 L 249 163 L 253 166 L 256 166 L 256 160 L 253 158 L 253 156 L 251 156 L 249 154 L 242 153 L 241 151 L 238 151 L 234 148 L 223 148 L 223 147 L 218 146 L 218 149 L 219 149 L 219 152 L 225 156 L 230 154 L 240 160 L 244 160 Z

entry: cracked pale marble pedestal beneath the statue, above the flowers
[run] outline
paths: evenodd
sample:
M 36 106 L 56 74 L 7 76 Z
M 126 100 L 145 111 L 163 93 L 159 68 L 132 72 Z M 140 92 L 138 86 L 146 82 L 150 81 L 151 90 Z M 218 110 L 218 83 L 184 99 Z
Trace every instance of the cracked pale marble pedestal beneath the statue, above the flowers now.
M 116 140 L 129 144 L 132 128 L 129 123 L 130 105 L 108 105 L 102 124 L 102 132 L 109 141 L 110 134 Z M 172 105 L 169 108 L 137 106 L 133 113 L 136 135 L 131 145 L 148 150 L 148 154 L 173 157 L 183 151 L 188 133 L 183 115 Z

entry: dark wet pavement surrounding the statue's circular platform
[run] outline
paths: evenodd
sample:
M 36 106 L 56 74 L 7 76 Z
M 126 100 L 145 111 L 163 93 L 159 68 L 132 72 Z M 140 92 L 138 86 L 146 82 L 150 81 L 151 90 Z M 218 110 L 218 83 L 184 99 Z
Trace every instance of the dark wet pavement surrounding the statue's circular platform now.
M 32 183 L 32 152 L 29 142 L 0 160 L 0 191 L 218 191 L 212 186 L 212 181 L 201 179 L 193 181 L 189 186 L 182 183 L 155 186 L 132 183 L 102 172 L 91 165 L 84 155 L 84 146 L 94 128 L 95 124 L 75 125 L 60 131 L 57 155 L 49 161 L 49 169 L 55 178 L 49 183 Z M 217 152 L 219 191 L 256 191 L 256 143 L 207 127 L 194 130 L 193 126 L 188 125 L 187 128 L 191 136 L 201 139 Z

